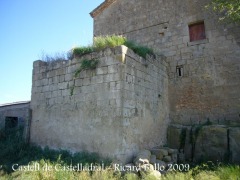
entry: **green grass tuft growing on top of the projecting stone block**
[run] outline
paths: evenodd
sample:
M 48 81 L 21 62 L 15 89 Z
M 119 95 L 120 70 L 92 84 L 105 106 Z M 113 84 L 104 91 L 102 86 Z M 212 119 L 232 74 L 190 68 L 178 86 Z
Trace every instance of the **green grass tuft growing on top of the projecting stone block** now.
M 92 46 L 76 47 L 73 48 L 72 52 L 73 55 L 83 56 L 94 51 L 100 51 L 105 48 L 113 48 L 121 45 L 127 46 L 128 48 L 132 49 L 136 54 L 143 58 L 146 58 L 147 54 L 154 55 L 153 50 L 148 48 L 147 46 L 140 46 L 134 43 L 133 41 L 127 40 L 123 36 L 116 35 L 95 37 L 93 39 Z

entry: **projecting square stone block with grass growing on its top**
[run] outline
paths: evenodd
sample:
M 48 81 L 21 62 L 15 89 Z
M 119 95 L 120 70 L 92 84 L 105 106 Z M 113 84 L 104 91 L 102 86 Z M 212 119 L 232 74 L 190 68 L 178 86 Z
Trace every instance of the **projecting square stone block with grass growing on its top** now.
M 98 152 L 120 162 L 131 161 L 141 148 L 166 143 L 166 62 L 144 60 L 125 46 L 81 58 L 97 58 L 99 64 L 77 78 L 79 59 L 34 62 L 31 142 Z

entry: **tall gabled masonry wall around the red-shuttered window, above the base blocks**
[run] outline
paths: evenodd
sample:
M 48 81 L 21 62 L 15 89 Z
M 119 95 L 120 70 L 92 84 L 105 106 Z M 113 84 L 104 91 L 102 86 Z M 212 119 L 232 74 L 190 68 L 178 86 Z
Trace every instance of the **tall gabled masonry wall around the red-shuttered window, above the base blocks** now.
M 239 125 L 240 28 L 219 23 L 207 2 L 118 0 L 94 18 L 94 35 L 123 34 L 167 57 L 172 123 Z M 188 25 L 201 20 L 206 39 L 190 42 Z

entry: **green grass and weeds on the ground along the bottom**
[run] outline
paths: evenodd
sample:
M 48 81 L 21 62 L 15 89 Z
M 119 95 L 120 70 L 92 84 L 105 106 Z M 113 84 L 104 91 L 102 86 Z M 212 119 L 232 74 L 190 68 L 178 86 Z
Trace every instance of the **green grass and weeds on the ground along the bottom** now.
M 41 149 L 34 145 L 29 145 L 23 141 L 22 128 L 0 131 L 0 179 L 51 179 L 51 180 L 137 180 L 141 179 L 133 173 L 121 174 L 110 168 L 110 161 L 101 158 L 96 153 L 81 152 L 71 155 L 63 150 Z M 19 165 L 39 164 L 36 171 L 12 171 L 12 164 Z M 102 171 L 61 171 L 59 167 L 69 167 L 82 163 L 83 165 L 101 165 L 104 163 L 105 169 Z M 46 170 L 46 164 L 52 169 Z M 2 167 L 1 167 L 2 166 Z M 58 169 L 55 169 L 55 167 Z M 142 179 L 154 179 L 151 176 L 143 176 Z M 190 168 L 187 172 L 168 172 L 162 175 L 163 180 L 239 180 L 240 166 L 214 164 L 206 162 Z

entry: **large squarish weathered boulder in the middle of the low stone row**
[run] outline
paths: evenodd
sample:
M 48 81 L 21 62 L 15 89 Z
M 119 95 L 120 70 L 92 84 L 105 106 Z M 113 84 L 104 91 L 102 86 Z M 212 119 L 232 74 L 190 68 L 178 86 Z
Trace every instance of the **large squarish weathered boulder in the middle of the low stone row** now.
M 194 160 L 223 161 L 228 149 L 227 128 L 203 126 L 197 136 Z

